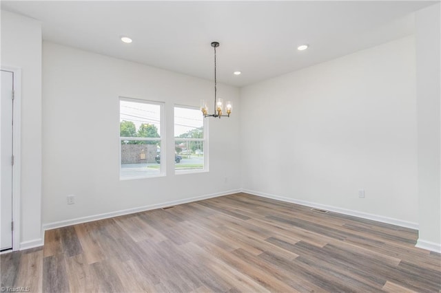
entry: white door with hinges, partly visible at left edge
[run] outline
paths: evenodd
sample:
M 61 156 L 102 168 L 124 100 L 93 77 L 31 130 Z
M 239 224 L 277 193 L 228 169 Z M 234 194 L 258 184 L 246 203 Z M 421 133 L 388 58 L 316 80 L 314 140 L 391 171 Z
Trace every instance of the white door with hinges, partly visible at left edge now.
M 1 70 L 0 100 L 0 190 L 1 250 L 12 248 L 12 89 L 14 73 Z

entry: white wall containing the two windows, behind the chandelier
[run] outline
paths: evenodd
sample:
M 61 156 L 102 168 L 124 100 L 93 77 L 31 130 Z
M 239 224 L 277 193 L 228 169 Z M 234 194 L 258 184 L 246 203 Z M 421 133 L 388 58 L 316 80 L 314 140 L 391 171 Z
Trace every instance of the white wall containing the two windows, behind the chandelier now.
M 121 181 L 119 96 L 165 102 L 172 156 L 174 103 L 198 107 L 214 98 L 213 82 L 44 42 L 43 224 L 238 191 L 238 89 L 219 89 L 234 113 L 209 120 L 209 173 L 174 175 L 170 162 L 166 177 Z

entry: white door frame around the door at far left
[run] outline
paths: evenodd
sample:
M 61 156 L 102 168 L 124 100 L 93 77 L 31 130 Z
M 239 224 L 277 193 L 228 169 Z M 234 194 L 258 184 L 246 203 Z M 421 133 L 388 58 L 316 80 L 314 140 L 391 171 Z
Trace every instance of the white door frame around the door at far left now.
M 14 155 L 14 166 L 12 166 L 12 251 L 20 250 L 20 186 L 21 186 L 21 68 L 1 65 L 1 70 L 12 72 L 14 103 L 12 119 L 12 153 Z

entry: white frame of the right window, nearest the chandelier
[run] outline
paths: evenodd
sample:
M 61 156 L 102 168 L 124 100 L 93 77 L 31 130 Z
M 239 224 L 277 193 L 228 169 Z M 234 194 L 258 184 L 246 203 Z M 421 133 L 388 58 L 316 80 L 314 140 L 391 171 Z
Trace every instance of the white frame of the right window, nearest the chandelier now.
M 175 108 L 184 108 L 184 109 L 192 109 L 201 111 L 199 107 L 190 106 L 190 105 L 182 105 L 182 104 L 174 104 L 173 106 L 173 145 L 176 146 L 176 140 L 184 140 L 184 141 L 199 141 L 204 144 L 204 166 L 203 169 L 187 169 L 187 170 L 176 170 L 176 162 L 174 164 L 174 173 L 176 175 L 183 174 L 194 174 L 194 173 L 207 173 L 209 172 L 209 144 L 208 144 L 208 119 L 203 118 L 203 135 L 204 138 L 175 138 L 174 135 L 174 125 L 175 125 Z M 203 113 L 201 112 L 201 116 Z M 173 149 L 174 149 L 173 147 Z

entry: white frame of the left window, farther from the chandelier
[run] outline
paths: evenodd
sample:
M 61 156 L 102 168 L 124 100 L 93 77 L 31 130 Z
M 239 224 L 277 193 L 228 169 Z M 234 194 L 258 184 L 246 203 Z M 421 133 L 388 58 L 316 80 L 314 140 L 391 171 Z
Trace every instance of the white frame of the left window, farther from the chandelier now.
M 158 105 L 159 106 L 159 138 L 132 138 L 132 137 L 125 137 L 121 136 L 121 101 L 127 101 L 127 102 L 138 102 L 142 104 L 149 104 L 149 105 Z M 140 98 L 127 98 L 124 96 L 119 96 L 118 98 L 118 109 L 119 109 L 119 125 L 118 125 L 118 131 L 119 131 L 119 180 L 139 180 L 139 179 L 146 179 L 146 178 L 154 178 L 154 177 L 164 177 L 167 175 L 165 166 L 167 165 L 167 151 L 166 151 L 166 140 L 165 138 L 165 102 L 155 101 L 155 100 L 143 100 Z M 130 177 L 122 177 L 121 176 L 121 140 L 143 140 L 143 141 L 158 141 L 161 143 L 161 162 L 160 162 L 160 169 L 158 174 L 153 175 L 141 175 L 141 176 L 130 176 Z

